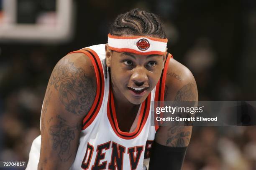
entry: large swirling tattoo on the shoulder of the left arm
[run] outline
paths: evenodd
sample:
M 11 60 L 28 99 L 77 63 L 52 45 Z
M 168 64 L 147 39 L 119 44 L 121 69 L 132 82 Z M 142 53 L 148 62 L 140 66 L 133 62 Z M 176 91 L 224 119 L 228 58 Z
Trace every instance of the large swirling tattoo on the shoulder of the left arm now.
M 74 115 L 88 113 L 96 95 L 96 85 L 82 67 L 61 60 L 52 72 L 49 85 L 59 91 L 59 100 Z

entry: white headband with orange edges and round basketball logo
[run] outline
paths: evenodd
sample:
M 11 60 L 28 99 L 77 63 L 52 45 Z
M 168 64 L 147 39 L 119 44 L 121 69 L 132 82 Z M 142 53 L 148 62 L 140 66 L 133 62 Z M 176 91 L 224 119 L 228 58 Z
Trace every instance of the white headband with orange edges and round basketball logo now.
M 145 36 L 113 36 L 108 34 L 110 50 L 118 52 L 132 52 L 139 55 L 164 55 L 166 52 L 167 38 L 154 38 Z

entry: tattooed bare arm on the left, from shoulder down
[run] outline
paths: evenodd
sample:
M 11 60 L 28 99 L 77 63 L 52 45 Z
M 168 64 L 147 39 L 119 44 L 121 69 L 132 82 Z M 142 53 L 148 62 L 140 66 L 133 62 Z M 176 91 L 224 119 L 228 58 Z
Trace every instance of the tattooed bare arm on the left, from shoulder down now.
M 78 147 L 82 121 L 96 95 L 92 63 L 82 53 L 63 57 L 51 74 L 41 112 L 38 169 L 69 169 Z

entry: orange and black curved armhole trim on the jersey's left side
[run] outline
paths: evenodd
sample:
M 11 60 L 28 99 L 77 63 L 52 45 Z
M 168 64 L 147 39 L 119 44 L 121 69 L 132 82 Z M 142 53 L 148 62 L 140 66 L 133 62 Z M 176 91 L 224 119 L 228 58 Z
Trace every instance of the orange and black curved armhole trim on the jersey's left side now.
M 75 53 L 75 52 L 82 52 L 90 58 L 95 70 L 96 81 L 97 81 L 97 90 L 96 90 L 95 100 L 88 114 L 84 117 L 84 120 L 83 120 L 82 130 L 84 130 L 92 123 L 92 121 L 95 119 L 95 117 L 97 116 L 100 110 L 103 96 L 104 96 L 104 87 L 105 87 L 104 73 L 103 73 L 103 68 L 102 68 L 100 58 L 95 51 L 89 48 L 84 48 L 82 50 L 70 52 L 69 54 Z

